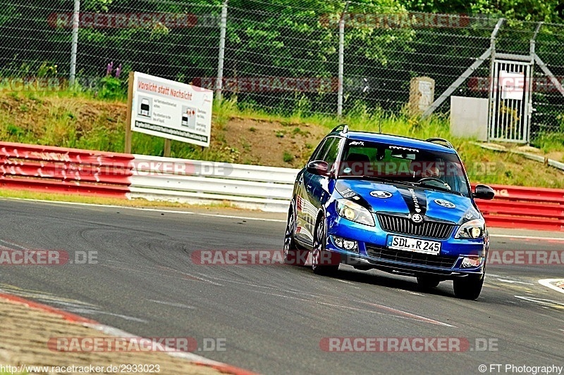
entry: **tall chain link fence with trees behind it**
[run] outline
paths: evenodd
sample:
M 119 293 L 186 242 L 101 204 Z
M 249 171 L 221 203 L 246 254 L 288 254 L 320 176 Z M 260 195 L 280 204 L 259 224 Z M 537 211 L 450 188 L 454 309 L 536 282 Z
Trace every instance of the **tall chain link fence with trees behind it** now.
M 0 76 L 67 79 L 74 72 L 80 87 L 97 91 L 107 75 L 118 75 L 125 89 L 135 70 L 221 88 L 242 108 L 283 114 L 399 113 L 413 77 L 431 77 L 439 98 L 465 72 L 453 94 L 489 97 L 489 55 L 467 70 L 490 48 L 498 19 L 381 3 L 0 0 Z M 529 55 L 532 39 L 562 81 L 564 25 L 505 22 L 495 51 Z M 537 65 L 533 87 L 532 131 L 564 132 L 564 96 Z

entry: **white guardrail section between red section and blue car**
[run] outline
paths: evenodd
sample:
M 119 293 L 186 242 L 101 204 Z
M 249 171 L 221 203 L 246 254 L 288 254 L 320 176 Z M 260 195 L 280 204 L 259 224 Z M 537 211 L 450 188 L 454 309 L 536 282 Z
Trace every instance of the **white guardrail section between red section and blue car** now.
M 286 212 L 299 170 L 135 155 L 130 197 Z

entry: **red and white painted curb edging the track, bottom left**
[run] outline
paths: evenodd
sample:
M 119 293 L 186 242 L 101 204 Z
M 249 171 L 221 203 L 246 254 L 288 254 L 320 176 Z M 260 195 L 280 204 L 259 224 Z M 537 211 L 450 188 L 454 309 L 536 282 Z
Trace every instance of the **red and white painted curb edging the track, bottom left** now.
M 96 322 L 95 320 L 87 319 L 85 317 L 80 317 L 80 315 L 73 314 L 71 312 L 66 312 L 64 310 L 60 310 L 55 307 L 51 307 L 49 305 L 44 305 L 43 303 L 37 303 L 32 300 L 27 300 L 26 298 L 19 297 L 18 295 L 0 293 L 0 298 L 11 301 L 13 303 L 20 303 L 23 305 L 27 305 L 28 307 L 31 307 L 32 309 L 35 310 L 41 310 L 44 312 L 49 312 L 51 314 L 60 315 L 67 322 L 71 322 L 74 324 L 81 324 L 82 326 L 95 329 L 97 331 L 106 333 L 111 336 L 130 337 L 130 338 L 139 337 L 133 335 L 132 333 L 121 331 L 121 329 L 117 329 L 112 326 L 106 326 L 105 324 L 101 324 L 99 322 Z M 245 369 L 240 369 L 239 367 L 231 366 L 231 364 L 225 364 L 223 362 L 208 360 L 207 358 L 201 357 L 200 355 L 195 355 L 190 352 L 166 352 L 166 354 L 170 355 L 171 357 L 188 360 L 190 363 L 198 366 L 211 367 L 213 369 L 216 369 L 217 371 L 222 372 L 223 374 L 257 375 L 257 373 L 255 372 L 248 371 Z

